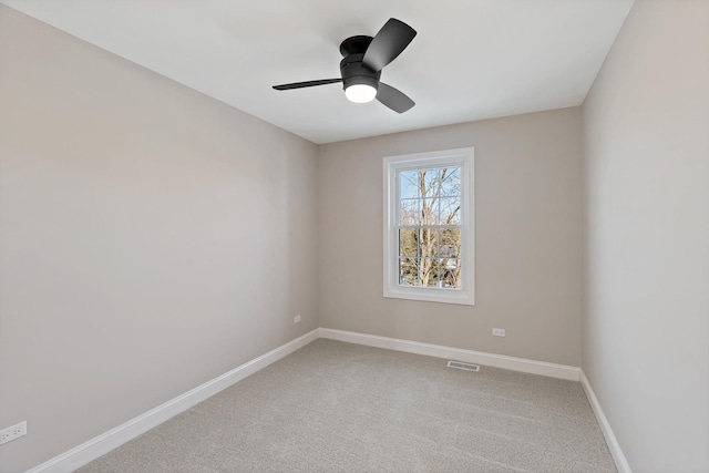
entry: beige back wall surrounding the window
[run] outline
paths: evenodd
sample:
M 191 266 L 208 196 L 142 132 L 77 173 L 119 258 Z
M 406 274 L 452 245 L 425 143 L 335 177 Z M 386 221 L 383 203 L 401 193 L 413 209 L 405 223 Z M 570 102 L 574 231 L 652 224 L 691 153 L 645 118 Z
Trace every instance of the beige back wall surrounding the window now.
M 383 298 L 382 157 L 464 146 L 476 305 Z M 580 154 L 578 107 L 320 146 L 320 325 L 578 366 Z

